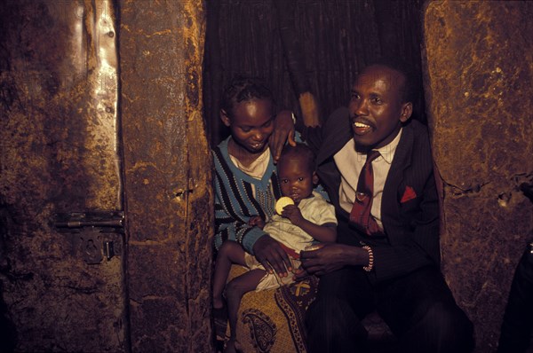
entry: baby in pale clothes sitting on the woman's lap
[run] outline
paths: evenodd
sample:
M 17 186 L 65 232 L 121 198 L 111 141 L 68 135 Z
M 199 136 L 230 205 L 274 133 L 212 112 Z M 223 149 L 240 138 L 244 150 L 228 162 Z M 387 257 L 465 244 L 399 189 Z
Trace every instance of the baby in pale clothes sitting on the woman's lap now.
M 293 204 L 282 208 L 281 215 L 272 216 L 266 224 L 259 216 L 251 216 L 249 224 L 263 228 L 282 244 L 291 262 L 287 270 L 294 273 L 299 268 L 301 250 L 317 242 L 334 242 L 337 239 L 337 219 L 333 206 L 320 193 L 314 192 L 318 176 L 314 171 L 314 153 L 306 145 L 286 145 L 277 164 L 277 174 L 282 195 L 290 198 Z M 266 271 L 255 256 L 246 253 L 235 241 L 225 241 L 219 248 L 215 263 L 213 302 L 222 301 L 222 292 L 233 263 L 241 264 L 249 271 L 234 278 L 226 286 L 230 325 L 230 339 L 225 349 L 227 352 L 237 349 L 236 320 L 243 294 L 294 282 L 290 274 L 281 277 L 272 271 Z M 214 312 L 214 315 L 216 317 L 217 313 Z

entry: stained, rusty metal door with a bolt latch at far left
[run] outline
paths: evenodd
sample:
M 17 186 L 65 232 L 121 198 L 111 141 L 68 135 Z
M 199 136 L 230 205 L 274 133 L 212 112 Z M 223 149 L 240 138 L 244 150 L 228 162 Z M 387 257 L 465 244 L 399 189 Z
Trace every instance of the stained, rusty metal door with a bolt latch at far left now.
M 0 351 L 121 351 L 122 258 L 100 244 L 122 237 L 54 226 L 122 210 L 113 6 L 9 0 L 0 23 Z

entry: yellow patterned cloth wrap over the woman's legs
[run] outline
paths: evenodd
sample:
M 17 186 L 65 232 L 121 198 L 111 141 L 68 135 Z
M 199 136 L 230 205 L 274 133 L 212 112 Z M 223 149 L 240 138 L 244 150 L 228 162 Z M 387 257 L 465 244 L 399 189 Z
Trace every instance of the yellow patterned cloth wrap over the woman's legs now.
M 247 269 L 233 265 L 229 280 Z M 237 341 L 243 352 L 306 352 L 304 318 L 318 278 L 244 294 L 237 314 Z M 229 326 L 227 327 L 229 337 Z

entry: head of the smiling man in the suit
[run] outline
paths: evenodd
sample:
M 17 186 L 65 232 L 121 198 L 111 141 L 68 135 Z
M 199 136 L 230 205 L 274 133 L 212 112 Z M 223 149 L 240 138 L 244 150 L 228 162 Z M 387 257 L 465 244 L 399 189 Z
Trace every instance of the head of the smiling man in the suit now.
M 412 113 L 403 102 L 402 73 L 381 65 L 365 68 L 357 77 L 348 106 L 355 145 L 365 149 L 389 144 Z

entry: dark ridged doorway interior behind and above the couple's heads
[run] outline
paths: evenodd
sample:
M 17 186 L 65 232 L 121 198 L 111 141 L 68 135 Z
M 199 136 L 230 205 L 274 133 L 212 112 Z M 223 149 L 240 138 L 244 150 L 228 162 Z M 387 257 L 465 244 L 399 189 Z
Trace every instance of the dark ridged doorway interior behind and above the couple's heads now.
M 400 56 L 421 70 L 416 1 L 237 0 L 206 4 L 204 114 L 211 144 L 227 130 L 219 96 L 234 75 L 262 77 L 278 108 L 298 114 L 298 95 L 311 92 L 323 118 L 344 106 L 358 71 L 380 56 Z M 423 101 L 418 119 L 426 121 Z

